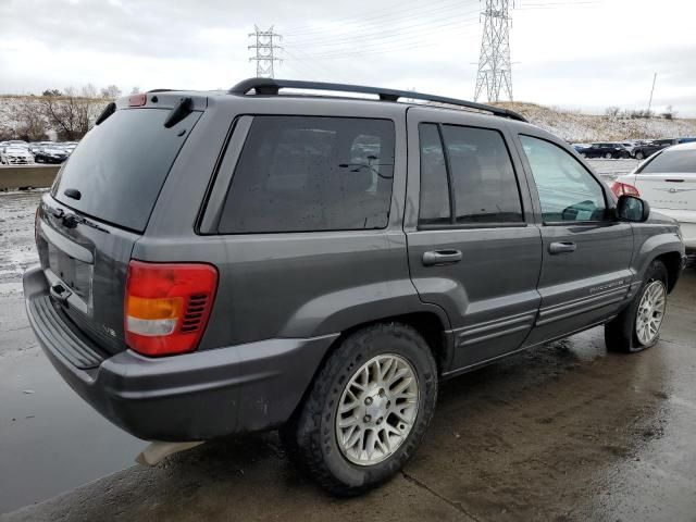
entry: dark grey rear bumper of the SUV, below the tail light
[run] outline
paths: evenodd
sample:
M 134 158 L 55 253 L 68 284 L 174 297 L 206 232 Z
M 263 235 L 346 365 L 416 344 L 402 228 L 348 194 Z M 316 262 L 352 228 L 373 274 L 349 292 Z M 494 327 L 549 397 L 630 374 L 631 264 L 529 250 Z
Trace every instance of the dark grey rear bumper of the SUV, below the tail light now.
M 26 272 L 24 290 L 32 327 L 65 382 L 103 417 L 148 440 L 277 427 L 337 337 L 269 339 L 159 359 L 130 350 L 109 357 L 52 306 L 40 269 Z

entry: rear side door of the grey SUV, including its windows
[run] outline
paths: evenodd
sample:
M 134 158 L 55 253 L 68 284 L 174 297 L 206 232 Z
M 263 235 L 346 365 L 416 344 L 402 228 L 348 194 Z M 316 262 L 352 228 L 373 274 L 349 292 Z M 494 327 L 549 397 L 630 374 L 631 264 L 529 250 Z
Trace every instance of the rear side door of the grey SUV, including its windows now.
M 421 299 L 446 310 L 451 370 L 514 351 L 539 306 L 539 231 L 505 122 L 411 108 L 405 229 Z

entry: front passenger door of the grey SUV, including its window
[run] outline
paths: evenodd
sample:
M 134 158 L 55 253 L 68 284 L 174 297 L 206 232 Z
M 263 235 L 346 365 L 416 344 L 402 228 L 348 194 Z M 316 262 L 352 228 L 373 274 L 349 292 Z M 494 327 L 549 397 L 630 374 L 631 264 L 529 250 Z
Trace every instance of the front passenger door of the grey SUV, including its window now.
M 526 344 L 604 321 L 633 278 L 633 229 L 612 217 L 609 189 L 548 135 L 519 135 L 537 209 L 544 262 L 542 306 Z

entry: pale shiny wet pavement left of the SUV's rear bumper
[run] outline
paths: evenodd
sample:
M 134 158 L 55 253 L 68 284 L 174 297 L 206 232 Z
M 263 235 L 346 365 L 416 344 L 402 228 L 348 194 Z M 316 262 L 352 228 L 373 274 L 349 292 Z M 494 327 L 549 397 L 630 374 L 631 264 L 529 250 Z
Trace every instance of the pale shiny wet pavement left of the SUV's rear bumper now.
M 0 513 L 123 470 L 145 446 L 77 398 L 29 328 L 22 273 L 41 194 L 0 192 Z

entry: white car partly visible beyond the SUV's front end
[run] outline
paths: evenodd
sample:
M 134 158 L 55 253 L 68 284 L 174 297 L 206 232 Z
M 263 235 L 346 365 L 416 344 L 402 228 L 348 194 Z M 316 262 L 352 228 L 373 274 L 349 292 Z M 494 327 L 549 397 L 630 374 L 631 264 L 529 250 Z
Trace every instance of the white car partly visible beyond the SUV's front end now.
M 696 142 L 660 150 L 611 185 L 617 196 L 639 196 L 679 221 L 686 252 L 696 253 Z

